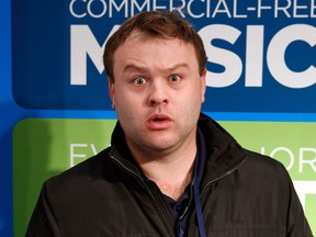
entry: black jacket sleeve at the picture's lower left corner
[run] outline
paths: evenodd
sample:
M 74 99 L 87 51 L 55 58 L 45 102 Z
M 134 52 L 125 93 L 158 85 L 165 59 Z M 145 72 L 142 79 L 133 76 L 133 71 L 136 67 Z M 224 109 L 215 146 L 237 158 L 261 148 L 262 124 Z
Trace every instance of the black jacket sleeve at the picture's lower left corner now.
M 60 237 L 57 222 L 49 206 L 45 184 L 42 188 L 38 201 L 32 214 L 26 237 Z

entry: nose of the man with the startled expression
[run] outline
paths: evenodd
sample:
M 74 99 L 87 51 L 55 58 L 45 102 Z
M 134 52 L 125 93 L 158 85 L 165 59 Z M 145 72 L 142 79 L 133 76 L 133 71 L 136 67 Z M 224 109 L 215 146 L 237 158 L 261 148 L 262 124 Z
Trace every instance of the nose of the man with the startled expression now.
M 163 81 L 153 81 L 148 87 L 148 104 L 150 106 L 167 104 L 169 102 L 168 86 Z

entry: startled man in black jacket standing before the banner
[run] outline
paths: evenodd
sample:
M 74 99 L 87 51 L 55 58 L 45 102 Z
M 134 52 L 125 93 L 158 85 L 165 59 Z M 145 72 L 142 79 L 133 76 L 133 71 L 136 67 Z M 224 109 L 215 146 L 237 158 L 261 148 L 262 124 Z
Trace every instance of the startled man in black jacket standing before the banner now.
M 311 237 L 286 170 L 200 114 L 191 25 L 144 12 L 108 41 L 111 147 L 46 181 L 26 236 Z

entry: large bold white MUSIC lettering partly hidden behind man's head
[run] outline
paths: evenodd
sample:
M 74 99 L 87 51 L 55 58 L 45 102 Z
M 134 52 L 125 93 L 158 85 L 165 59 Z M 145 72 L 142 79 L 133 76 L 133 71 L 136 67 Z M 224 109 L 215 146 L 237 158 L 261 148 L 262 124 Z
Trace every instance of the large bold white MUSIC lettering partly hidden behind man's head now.
M 142 7 L 144 8 L 144 5 Z M 88 55 L 100 74 L 103 72 L 102 54 L 108 38 L 119 29 L 114 25 L 102 46 L 99 45 L 88 25 L 71 25 L 70 27 L 70 84 L 87 84 Z M 224 24 L 206 25 L 199 31 L 208 61 L 225 68 L 224 71 L 207 71 L 208 87 L 229 87 L 238 81 L 242 74 L 242 61 L 232 49 L 216 46 L 217 42 L 228 42 L 232 45 L 239 38 L 241 32 Z M 246 31 L 245 87 L 262 87 L 263 75 L 263 25 L 248 25 Z M 307 43 L 312 48 L 316 45 L 316 27 L 306 24 L 294 24 L 282 29 L 271 40 L 267 49 L 267 65 L 271 75 L 284 87 L 307 88 L 316 83 L 316 67 L 311 66 L 304 71 L 291 70 L 285 61 L 285 50 L 293 42 Z M 308 60 L 308 58 L 307 58 Z M 308 61 L 307 61 L 308 63 Z

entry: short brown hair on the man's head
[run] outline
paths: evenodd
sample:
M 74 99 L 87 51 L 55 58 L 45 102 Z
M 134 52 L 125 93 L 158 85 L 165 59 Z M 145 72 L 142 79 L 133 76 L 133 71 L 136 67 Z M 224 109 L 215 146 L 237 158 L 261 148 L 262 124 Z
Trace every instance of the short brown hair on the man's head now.
M 103 54 L 103 64 L 109 79 L 114 81 L 113 55 L 119 46 L 124 44 L 133 30 L 139 31 L 149 37 L 179 38 L 192 44 L 199 63 L 199 72 L 203 74 L 206 64 L 206 53 L 200 35 L 193 30 L 192 25 L 172 12 L 140 12 L 128 19 L 122 26 L 108 40 Z

